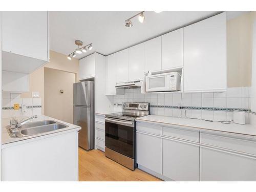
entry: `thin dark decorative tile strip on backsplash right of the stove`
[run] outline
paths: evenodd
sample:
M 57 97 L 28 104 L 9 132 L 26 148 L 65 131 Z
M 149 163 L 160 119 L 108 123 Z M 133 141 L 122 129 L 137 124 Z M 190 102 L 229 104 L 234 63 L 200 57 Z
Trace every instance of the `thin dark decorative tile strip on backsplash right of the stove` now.
M 179 109 L 180 106 L 175 105 L 150 105 L 152 108 L 170 108 L 170 109 Z M 206 111 L 245 111 L 250 112 L 249 109 L 238 109 L 238 108 L 208 108 L 204 106 L 182 106 L 182 109 L 189 110 L 206 110 Z M 254 113 L 254 112 L 252 112 Z M 255 113 L 256 114 L 256 113 Z

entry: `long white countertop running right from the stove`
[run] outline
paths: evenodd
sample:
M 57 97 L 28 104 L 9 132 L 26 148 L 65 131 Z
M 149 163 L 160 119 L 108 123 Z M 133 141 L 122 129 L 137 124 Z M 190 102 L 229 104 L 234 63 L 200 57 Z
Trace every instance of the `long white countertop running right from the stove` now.
M 137 118 L 138 122 L 151 122 L 160 125 L 179 125 L 187 129 L 198 129 L 200 131 L 219 131 L 232 134 L 242 134 L 245 136 L 256 136 L 256 126 L 251 124 L 240 125 L 231 122 L 230 124 L 224 124 L 221 122 L 209 122 L 205 120 L 198 119 L 188 119 L 188 118 L 176 118 L 167 117 L 160 115 L 147 115 L 144 117 Z

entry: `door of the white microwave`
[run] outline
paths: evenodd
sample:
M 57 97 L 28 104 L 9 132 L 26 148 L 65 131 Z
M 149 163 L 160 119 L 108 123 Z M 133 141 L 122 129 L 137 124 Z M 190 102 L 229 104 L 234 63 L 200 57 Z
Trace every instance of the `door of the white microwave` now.
M 169 75 L 146 77 L 146 92 L 170 91 Z

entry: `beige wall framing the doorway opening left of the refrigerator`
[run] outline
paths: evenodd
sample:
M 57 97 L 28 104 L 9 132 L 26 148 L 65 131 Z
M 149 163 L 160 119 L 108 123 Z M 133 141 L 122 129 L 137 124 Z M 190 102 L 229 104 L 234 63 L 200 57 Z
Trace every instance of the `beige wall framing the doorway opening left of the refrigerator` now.
M 22 93 L 21 98 L 31 98 L 33 91 L 38 91 L 40 98 L 42 98 L 42 114 L 44 114 L 44 68 L 57 69 L 60 71 L 71 72 L 75 74 L 76 82 L 78 82 L 79 74 L 79 60 L 78 59 L 67 59 L 67 55 L 50 51 L 50 62 L 44 67 L 37 69 L 33 73 L 29 74 L 29 92 Z

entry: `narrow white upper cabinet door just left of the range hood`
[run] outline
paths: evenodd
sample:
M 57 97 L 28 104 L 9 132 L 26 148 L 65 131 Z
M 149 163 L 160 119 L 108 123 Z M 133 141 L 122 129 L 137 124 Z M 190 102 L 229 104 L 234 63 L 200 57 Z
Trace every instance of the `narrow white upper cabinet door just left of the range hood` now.
M 116 94 L 116 56 L 109 55 L 106 58 L 106 95 Z

